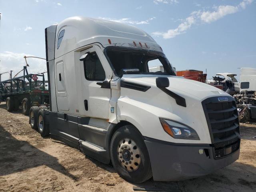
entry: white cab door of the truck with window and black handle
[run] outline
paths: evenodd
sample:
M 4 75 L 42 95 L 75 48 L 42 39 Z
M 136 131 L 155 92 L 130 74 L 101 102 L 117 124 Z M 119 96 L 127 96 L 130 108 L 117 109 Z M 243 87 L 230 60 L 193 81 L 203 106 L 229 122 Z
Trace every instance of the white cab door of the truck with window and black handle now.
M 82 60 L 83 114 L 92 118 L 108 119 L 111 98 L 109 82 L 112 77 L 111 68 L 98 46 L 82 51 L 80 60 Z M 109 82 L 109 87 L 107 82 Z

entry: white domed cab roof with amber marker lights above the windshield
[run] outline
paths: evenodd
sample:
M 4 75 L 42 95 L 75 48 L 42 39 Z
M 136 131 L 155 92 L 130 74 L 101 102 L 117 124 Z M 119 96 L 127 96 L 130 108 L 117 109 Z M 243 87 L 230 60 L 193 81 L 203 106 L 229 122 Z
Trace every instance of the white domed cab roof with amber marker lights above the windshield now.
M 63 30 L 64 36 L 58 47 L 59 35 L 63 34 Z M 55 40 L 55 58 L 95 42 L 103 47 L 126 46 L 162 52 L 162 48 L 150 35 L 135 26 L 82 16 L 70 17 L 60 22 L 56 28 Z

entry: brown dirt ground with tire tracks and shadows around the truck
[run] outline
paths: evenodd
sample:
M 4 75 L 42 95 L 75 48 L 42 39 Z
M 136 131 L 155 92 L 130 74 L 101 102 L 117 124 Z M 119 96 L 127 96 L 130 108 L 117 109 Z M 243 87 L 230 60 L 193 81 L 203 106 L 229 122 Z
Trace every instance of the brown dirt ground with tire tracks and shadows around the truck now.
M 133 184 L 110 166 L 84 156 L 30 128 L 28 116 L 7 112 L 0 104 L 0 192 L 130 192 Z M 240 158 L 210 175 L 182 182 L 154 182 L 139 187 L 159 191 L 250 192 L 256 189 L 256 123 L 241 124 Z

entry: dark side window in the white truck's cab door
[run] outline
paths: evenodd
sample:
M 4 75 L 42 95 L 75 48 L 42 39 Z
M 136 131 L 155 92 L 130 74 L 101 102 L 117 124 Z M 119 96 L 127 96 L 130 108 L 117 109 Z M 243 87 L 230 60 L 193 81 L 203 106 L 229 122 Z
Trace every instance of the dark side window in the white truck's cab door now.
M 105 71 L 96 52 L 89 53 L 84 60 L 84 75 L 87 80 L 104 81 Z

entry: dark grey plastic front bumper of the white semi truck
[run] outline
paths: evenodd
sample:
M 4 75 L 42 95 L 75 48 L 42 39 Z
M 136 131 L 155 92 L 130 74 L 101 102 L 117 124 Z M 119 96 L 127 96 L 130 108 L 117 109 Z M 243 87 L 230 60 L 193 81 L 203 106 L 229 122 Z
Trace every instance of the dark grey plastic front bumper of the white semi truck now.
M 175 144 L 146 137 L 145 144 L 156 181 L 178 181 L 203 176 L 235 162 L 240 153 L 239 148 L 224 158 L 214 159 L 213 148 L 209 144 Z M 199 154 L 200 149 L 203 154 Z

